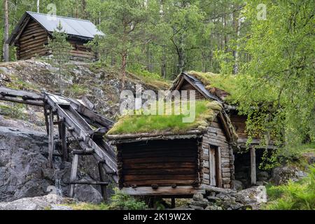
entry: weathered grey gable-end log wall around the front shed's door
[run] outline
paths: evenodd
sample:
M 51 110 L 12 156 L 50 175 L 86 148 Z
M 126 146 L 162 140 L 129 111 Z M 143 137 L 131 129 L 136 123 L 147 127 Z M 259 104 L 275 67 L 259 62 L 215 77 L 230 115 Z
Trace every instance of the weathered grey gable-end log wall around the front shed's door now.
M 209 152 L 212 148 L 216 148 L 218 155 L 211 161 L 216 161 L 216 166 L 209 162 Z M 202 152 L 203 152 L 203 182 L 207 185 L 211 183 L 211 175 L 216 174 L 216 186 L 220 188 L 231 188 L 232 180 L 234 179 L 234 155 L 228 140 L 225 137 L 223 128 L 218 119 L 214 119 L 211 126 L 208 128 L 207 134 L 202 137 Z M 216 167 L 216 171 L 210 170 L 211 167 Z M 214 168 L 213 168 L 214 169 Z

